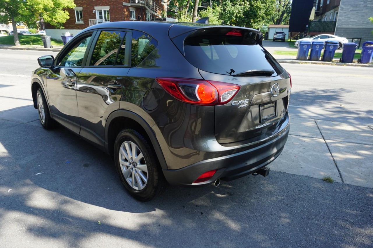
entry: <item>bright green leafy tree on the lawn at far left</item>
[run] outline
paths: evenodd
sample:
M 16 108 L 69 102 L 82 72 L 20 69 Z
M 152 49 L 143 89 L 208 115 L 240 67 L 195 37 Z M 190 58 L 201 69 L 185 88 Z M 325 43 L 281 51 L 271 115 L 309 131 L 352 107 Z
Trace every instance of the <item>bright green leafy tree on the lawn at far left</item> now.
M 66 9 L 75 7 L 74 0 L 0 0 L 0 22 L 12 22 L 14 44 L 19 46 L 17 22 L 35 24 L 41 18 L 57 28 L 69 19 Z

